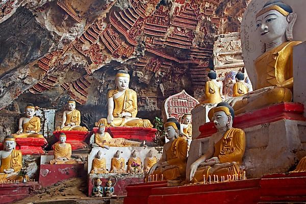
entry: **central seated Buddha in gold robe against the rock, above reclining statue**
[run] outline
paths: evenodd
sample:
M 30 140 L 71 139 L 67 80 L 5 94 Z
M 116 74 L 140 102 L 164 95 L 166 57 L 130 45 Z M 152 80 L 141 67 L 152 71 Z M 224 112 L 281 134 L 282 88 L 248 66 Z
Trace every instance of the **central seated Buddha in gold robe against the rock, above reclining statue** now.
M 137 94 L 129 88 L 130 75 L 120 70 L 116 74 L 116 89 L 110 90 L 108 97 L 108 116 L 95 123 L 96 126 L 153 127 L 147 119 L 137 118 Z

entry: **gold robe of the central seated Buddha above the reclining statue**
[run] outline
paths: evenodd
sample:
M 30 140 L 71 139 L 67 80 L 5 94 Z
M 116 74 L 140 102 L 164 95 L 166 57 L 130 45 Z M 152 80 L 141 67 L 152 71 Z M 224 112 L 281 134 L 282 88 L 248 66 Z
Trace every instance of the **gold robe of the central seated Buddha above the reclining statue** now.
M 108 98 L 112 98 L 118 90 L 110 90 L 108 92 Z M 120 117 L 122 112 L 129 112 L 132 117 L 137 115 L 137 93 L 132 89 L 126 89 L 124 94 L 118 98 L 114 98 L 114 120 L 111 124 L 107 123 L 106 118 L 101 118 L 95 123 L 96 126 L 104 124 L 105 126 L 128 126 L 128 127 L 153 127 L 151 122 L 147 119 L 129 119 L 129 117 Z

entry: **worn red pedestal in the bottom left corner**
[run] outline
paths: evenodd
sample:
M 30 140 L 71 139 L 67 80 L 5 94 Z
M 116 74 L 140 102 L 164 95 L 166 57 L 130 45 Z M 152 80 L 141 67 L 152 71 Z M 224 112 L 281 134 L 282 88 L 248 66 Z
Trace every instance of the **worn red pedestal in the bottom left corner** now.
M 38 182 L 0 184 L 0 203 L 14 203 L 32 194 L 40 188 Z

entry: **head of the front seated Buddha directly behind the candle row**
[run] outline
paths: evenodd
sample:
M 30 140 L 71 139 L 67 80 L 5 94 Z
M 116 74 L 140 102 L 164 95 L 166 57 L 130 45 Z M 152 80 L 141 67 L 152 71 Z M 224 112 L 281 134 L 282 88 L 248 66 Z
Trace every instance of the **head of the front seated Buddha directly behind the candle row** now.
M 214 122 L 219 132 L 232 128 L 234 116 L 234 109 L 226 102 L 219 103 L 208 112 L 210 121 Z

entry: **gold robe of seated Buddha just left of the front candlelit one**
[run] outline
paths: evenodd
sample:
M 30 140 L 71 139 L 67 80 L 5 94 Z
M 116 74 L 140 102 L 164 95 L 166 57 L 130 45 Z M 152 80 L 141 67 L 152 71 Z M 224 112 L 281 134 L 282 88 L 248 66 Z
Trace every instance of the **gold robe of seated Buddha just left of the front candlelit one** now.
M 176 138 L 171 147 L 166 150 L 167 163 L 171 165 L 169 169 L 167 167 L 158 167 L 152 174 L 158 177 L 158 181 L 162 180 L 185 180 L 186 177 L 186 165 L 187 165 L 187 141 L 183 138 Z M 163 174 L 163 176 L 162 176 Z

